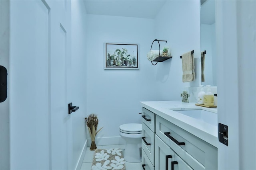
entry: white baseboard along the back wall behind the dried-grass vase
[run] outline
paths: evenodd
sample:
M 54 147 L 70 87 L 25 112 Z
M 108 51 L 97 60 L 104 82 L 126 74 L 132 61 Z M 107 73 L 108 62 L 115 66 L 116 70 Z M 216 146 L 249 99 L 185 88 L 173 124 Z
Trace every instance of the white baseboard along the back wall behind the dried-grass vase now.
M 88 139 L 88 147 L 91 146 L 92 140 Z M 119 137 L 99 137 L 95 138 L 95 143 L 96 146 L 100 145 L 122 145 L 125 144 L 124 139 L 122 139 L 120 136 Z

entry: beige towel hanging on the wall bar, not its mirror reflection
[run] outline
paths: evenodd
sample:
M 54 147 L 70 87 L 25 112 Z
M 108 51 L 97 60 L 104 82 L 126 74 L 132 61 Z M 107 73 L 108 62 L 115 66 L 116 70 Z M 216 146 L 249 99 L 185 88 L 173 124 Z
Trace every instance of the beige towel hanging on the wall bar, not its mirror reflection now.
M 194 54 L 191 51 L 182 55 L 182 82 L 195 80 Z

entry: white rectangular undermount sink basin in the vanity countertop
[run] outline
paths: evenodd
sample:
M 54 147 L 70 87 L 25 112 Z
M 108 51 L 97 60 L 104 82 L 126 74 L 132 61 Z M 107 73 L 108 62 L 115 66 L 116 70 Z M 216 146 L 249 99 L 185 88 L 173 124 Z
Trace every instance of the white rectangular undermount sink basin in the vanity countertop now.
M 173 110 L 173 109 L 172 109 Z M 203 121 L 205 123 L 217 126 L 218 124 L 218 117 L 216 113 L 213 113 L 211 111 L 206 111 L 202 109 L 193 109 L 193 110 L 173 110 L 177 111 L 183 115 L 192 117 L 194 119 L 198 119 L 200 121 Z

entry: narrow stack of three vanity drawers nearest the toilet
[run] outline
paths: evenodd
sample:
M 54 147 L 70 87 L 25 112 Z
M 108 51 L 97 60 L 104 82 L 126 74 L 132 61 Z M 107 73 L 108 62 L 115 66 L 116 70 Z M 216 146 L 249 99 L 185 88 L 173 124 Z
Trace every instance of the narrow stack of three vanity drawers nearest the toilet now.
M 156 115 L 142 107 L 142 167 L 154 170 Z

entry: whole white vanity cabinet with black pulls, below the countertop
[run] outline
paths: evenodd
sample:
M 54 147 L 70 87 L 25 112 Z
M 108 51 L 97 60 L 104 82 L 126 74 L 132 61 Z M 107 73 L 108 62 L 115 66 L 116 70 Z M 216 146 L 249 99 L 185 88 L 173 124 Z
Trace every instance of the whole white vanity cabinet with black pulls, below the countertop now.
M 216 147 L 148 109 L 142 107 L 143 170 L 218 169 Z

